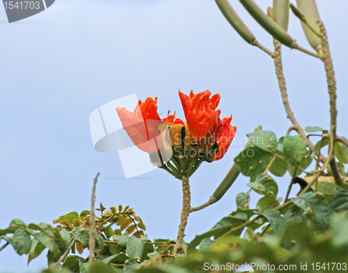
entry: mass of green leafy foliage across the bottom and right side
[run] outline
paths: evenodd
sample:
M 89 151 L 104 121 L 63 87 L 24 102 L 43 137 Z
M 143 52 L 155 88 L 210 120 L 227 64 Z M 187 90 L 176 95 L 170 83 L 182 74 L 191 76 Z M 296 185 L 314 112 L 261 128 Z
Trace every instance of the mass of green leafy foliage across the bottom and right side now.
M 307 130 L 325 133 L 321 128 Z M 184 242 L 187 253 L 181 250 L 179 256 L 171 256 L 175 240 L 149 240 L 144 235 L 143 220 L 132 208 L 121 205 L 106 210 L 100 204 L 97 209 L 101 215 L 95 217 L 92 267 L 88 258 L 79 256 L 88 248 L 90 240 L 88 210 L 70 212 L 55 219 L 56 227 L 26 225 L 14 219 L 7 228 L 0 229 L 1 240 L 12 245 L 19 255 L 28 254 L 28 264 L 48 249 L 50 265 L 61 258 L 76 237 L 71 253 L 56 269 L 82 273 L 206 272 L 204 263 L 223 265 L 231 260 L 237 265 L 254 262 L 299 265 L 347 260 L 348 184 L 336 185 L 329 170 L 308 171 L 313 160 L 319 166 L 320 162 L 299 136 L 287 135 L 277 140 L 273 132 L 257 130 L 248 137 L 250 145 L 235 158 L 235 169 L 251 177 L 247 184 L 251 189 L 237 194 L 237 210 L 222 217 L 189 244 Z M 318 141 L 316 151 L 327 141 L 327 137 Z M 335 157 L 343 170 L 347 156 L 347 147 L 335 143 Z M 284 176 L 287 171 L 301 180 L 303 187 L 308 183 L 311 187 L 308 192 L 281 204 L 283 198 L 278 197 L 276 178 L 269 173 Z M 297 177 L 303 172 L 304 177 Z M 260 196 L 255 209 L 249 208 L 252 190 Z M 77 234 L 81 224 L 84 228 Z M 58 272 L 56 269 L 45 272 Z

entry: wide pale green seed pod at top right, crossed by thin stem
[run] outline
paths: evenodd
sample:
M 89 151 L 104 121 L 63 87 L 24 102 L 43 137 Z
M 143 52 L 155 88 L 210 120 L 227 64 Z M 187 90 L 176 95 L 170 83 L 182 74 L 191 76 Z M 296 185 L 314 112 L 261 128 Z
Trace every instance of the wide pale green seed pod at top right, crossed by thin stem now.
M 300 10 L 300 12 L 306 17 L 306 20 L 308 23 L 313 26 L 313 29 L 317 31 L 317 33 L 320 32 L 319 24 L 317 22 L 320 21 L 319 11 L 317 8 L 317 3 L 315 3 L 315 0 L 296 0 L 297 8 Z M 321 47 L 322 41 L 318 36 L 311 31 L 308 26 L 304 22 L 301 22 L 302 29 L 304 33 L 306 34 L 306 38 L 308 42 L 310 43 L 310 46 L 313 47 L 316 51 Z

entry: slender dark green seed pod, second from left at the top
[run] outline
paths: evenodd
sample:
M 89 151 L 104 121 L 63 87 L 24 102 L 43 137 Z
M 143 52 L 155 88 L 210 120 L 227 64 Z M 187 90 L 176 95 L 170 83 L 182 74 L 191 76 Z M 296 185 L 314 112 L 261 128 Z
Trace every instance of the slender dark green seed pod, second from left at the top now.
M 294 39 L 287 34 L 274 20 L 267 16 L 253 0 L 239 0 L 251 16 L 276 40 L 287 47 L 292 47 Z

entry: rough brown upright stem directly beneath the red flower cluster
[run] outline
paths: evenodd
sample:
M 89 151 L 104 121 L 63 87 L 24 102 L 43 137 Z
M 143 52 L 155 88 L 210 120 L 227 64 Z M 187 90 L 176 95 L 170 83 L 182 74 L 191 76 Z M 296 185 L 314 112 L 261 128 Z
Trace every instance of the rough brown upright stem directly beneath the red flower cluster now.
M 179 231 L 177 232 L 177 240 L 173 249 L 173 254 L 177 254 L 182 245 L 182 240 L 185 235 L 185 227 L 187 225 L 187 218 L 189 218 L 191 210 L 191 192 L 189 185 L 189 178 L 186 176 L 182 177 L 182 212 L 181 221 L 179 225 Z

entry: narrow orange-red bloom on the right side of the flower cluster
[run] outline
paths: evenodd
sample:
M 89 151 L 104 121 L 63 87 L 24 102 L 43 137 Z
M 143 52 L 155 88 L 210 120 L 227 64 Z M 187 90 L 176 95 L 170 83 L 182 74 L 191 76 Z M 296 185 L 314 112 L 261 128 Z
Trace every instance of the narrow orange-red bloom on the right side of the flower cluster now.
M 230 147 L 230 143 L 232 142 L 233 137 L 235 137 L 237 127 L 231 126 L 230 122 L 232 120 L 232 116 L 229 118 L 223 118 L 221 125 L 222 130 L 219 136 L 219 139 L 216 141 L 219 144 L 219 152 L 216 153 L 214 160 L 219 160 L 225 155 Z

